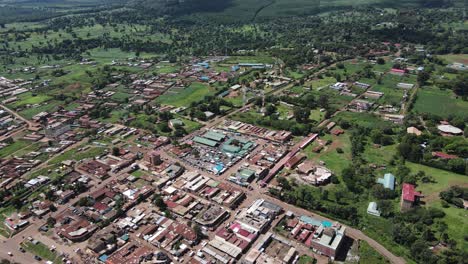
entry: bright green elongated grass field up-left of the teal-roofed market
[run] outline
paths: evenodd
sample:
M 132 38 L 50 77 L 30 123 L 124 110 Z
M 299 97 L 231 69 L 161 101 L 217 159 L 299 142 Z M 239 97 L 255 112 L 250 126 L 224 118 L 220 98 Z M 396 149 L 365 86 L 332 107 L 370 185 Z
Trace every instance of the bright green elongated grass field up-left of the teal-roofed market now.
M 192 102 L 201 101 L 205 96 L 212 95 L 214 89 L 204 83 L 192 83 L 183 90 L 169 90 L 156 99 L 157 103 L 176 107 L 190 106 Z

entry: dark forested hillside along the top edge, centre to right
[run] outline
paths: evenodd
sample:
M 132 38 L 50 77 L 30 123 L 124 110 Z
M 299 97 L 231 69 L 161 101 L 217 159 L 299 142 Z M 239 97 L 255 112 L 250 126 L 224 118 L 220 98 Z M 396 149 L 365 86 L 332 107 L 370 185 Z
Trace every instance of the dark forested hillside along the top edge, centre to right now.
M 194 15 L 204 19 L 244 21 L 314 15 L 352 7 L 434 8 L 463 6 L 465 0 L 130 0 L 128 7 L 152 15 Z

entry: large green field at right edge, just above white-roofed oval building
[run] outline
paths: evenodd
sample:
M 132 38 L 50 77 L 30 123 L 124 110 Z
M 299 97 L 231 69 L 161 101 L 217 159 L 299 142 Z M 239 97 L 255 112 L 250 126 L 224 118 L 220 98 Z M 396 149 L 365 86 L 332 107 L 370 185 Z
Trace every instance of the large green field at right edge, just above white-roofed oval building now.
M 419 89 L 413 111 L 431 113 L 442 117 L 468 113 L 468 102 L 456 98 L 452 91 L 435 87 Z

